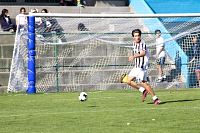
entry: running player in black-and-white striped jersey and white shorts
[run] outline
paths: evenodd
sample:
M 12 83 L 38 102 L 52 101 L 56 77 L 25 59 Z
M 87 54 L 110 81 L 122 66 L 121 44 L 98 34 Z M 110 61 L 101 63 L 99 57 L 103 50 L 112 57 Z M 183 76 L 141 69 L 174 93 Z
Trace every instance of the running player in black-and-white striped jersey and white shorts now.
M 145 42 L 141 39 L 142 32 L 140 29 L 132 31 L 133 37 L 133 55 L 129 56 L 129 61 L 134 61 L 134 68 L 130 71 L 126 80 L 122 82 L 127 83 L 133 88 L 142 92 L 142 101 L 145 100 L 148 93 L 151 94 L 155 105 L 160 103 L 160 100 L 155 95 L 151 86 L 147 83 L 147 68 L 149 55 Z

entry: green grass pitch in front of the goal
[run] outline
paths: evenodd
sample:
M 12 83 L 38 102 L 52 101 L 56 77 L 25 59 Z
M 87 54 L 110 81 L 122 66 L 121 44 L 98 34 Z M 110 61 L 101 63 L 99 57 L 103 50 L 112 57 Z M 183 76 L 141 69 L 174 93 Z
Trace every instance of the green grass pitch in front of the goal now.
M 199 133 L 200 89 L 157 90 L 141 102 L 137 91 L 0 95 L 2 133 Z M 128 123 L 128 124 L 127 124 Z

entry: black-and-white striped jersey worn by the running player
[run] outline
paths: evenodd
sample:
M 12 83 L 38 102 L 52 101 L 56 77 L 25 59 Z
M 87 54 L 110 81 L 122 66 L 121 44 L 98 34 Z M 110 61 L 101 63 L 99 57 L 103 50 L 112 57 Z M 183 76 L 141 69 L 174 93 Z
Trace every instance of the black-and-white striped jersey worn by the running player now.
M 144 50 L 146 54 L 143 57 L 134 58 L 134 66 L 135 68 L 147 69 L 149 62 L 149 52 L 145 42 L 143 40 L 141 40 L 140 43 L 133 42 L 133 55 L 140 54 L 142 50 Z

